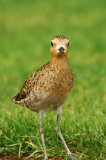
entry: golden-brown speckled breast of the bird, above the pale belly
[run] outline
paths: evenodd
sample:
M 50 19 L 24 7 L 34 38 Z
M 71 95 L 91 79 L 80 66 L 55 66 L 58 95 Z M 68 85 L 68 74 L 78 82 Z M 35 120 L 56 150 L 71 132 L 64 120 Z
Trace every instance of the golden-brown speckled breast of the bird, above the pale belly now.
M 34 87 L 35 94 L 39 98 L 62 98 L 69 94 L 73 86 L 73 75 L 70 69 L 50 68 L 44 70 Z

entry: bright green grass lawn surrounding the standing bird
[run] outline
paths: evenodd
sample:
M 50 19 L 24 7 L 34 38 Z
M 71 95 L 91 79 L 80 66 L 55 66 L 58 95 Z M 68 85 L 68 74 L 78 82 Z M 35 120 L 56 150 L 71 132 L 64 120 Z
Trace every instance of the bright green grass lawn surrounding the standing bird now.
M 61 130 L 78 159 L 105 157 L 106 1 L 0 0 L 0 154 L 43 157 L 39 116 L 11 104 L 25 79 L 50 59 L 50 40 L 70 39 L 75 76 L 64 104 Z M 47 153 L 66 159 L 55 131 L 56 113 L 44 118 Z

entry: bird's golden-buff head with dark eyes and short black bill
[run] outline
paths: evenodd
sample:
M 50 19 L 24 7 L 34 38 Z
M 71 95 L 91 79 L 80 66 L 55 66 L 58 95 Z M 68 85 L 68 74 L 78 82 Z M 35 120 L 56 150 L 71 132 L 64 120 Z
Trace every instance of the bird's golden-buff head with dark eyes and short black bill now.
M 65 36 L 55 36 L 51 40 L 50 52 L 52 56 L 63 57 L 68 53 L 69 40 Z

